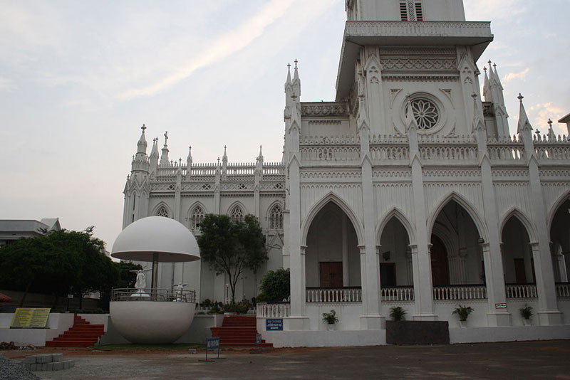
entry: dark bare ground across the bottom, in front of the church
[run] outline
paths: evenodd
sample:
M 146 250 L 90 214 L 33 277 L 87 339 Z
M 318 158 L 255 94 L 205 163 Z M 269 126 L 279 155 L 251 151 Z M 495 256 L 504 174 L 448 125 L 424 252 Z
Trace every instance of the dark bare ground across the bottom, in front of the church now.
M 63 352 L 76 366 L 41 379 L 570 379 L 570 341 L 430 346 L 326 347 L 222 352 L 38 349 L 11 359 Z M 210 355 L 212 356 L 212 355 Z

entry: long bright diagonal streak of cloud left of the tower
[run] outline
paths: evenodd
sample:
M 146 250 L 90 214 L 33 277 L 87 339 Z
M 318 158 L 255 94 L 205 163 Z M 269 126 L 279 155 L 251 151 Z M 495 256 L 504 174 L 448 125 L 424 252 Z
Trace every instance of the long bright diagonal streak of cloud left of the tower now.
M 195 73 L 199 68 L 217 63 L 231 56 L 233 53 L 242 50 L 257 37 L 261 36 L 261 33 L 263 33 L 267 26 L 283 16 L 293 1 L 294 0 L 272 0 L 241 26 L 214 41 L 209 48 L 203 53 L 200 53 L 199 56 L 175 68 L 170 75 L 167 75 L 152 85 L 128 90 L 120 95 L 120 99 L 129 100 L 133 97 L 150 96 L 160 93 L 162 90 L 190 77 L 190 75 Z

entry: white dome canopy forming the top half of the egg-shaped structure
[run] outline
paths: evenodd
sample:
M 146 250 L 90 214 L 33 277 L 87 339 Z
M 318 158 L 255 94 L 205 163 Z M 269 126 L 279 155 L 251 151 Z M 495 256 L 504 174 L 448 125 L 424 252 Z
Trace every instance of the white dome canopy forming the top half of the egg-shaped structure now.
M 117 236 L 111 256 L 122 260 L 152 261 L 158 254 L 162 263 L 199 260 L 196 238 L 182 223 L 163 216 L 149 216 L 130 223 Z

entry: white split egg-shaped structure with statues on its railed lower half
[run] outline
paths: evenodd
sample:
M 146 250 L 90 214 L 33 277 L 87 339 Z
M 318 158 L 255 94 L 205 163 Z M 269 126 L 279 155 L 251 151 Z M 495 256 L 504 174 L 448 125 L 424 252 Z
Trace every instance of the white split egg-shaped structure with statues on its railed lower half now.
M 199 260 L 196 238 L 170 218 L 149 216 L 127 226 L 117 237 L 113 258 L 157 263 Z M 153 272 L 154 272 L 153 270 Z M 195 293 L 176 289 L 146 287 L 144 271 L 139 271 L 136 289 L 115 289 L 109 309 L 110 318 L 120 334 L 133 343 L 165 344 L 175 342 L 192 324 L 196 308 Z

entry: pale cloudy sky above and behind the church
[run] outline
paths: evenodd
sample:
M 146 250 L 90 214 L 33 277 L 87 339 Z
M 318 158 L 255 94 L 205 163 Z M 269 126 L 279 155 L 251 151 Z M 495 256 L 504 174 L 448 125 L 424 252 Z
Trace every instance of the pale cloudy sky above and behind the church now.
M 492 21 L 512 134 L 517 95 L 546 132 L 570 112 L 568 0 L 465 0 Z M 334 100 L 343 0 L 0 0 L 0 218 L 95 226 L 113 246 L 140 126 L 170 158 L 281 160 L 286 65 Z

